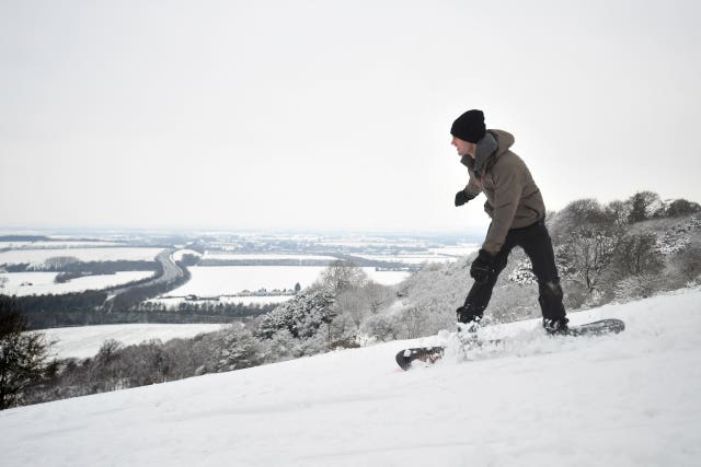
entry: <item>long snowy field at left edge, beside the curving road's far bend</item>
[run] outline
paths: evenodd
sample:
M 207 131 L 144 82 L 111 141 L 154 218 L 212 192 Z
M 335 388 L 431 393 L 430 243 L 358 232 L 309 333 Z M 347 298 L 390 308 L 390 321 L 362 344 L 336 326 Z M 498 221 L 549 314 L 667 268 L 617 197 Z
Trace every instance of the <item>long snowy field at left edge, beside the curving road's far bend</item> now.
M 162 248 L 41 248 L 41 249 L 10 249 L 0 253 L 0 265 L 16 265 L 28 262 L 41 265 L 49 258 L 72 256 L 80 261 L 152 261 Z

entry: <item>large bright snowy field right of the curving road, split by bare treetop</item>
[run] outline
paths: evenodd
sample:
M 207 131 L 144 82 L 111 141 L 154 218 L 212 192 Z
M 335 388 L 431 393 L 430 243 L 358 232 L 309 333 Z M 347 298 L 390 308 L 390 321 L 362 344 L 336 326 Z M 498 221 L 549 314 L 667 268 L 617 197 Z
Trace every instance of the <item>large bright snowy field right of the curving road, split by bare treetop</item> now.
M 192 278 L 182 287 L 168 292 L 170 296 L 231 295 L 243 290 L 292 290 L 299 282 L 302 288 L 319 279 L 325 267 L 321 266 L 193 266 Z M 376 271 L 363 268 L 370 279 L 382 284 L 401 282 L 409 277 L 402 271 Z

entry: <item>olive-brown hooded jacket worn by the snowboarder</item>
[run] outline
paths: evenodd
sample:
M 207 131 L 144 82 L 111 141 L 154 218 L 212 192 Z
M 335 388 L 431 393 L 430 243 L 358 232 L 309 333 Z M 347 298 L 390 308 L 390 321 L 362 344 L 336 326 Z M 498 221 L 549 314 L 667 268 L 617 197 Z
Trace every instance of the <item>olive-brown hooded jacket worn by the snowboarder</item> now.
M 497 142 L 485 163 L 482 174 L 474 172 L 474 161 L 463 155 L 460 162 L 468 167 L 470 182 L 464 188 L 470 199 L 480 192 L 486 196 L 484 210 L 492 225 L 482 248 L 496 255 L 504 245 L 509 229 L 535 224 L 545 217 L 545 205 L 524 161 L 509 148 L 514 136 L 503 130 L 487 130 Z

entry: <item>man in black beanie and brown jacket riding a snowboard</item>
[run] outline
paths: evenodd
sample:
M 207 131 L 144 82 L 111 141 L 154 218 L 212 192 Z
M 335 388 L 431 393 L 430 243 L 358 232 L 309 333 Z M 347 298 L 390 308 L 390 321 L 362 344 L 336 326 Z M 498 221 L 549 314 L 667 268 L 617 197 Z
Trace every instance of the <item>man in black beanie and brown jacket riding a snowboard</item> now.
M 476 109 L 458 117 L 450 133 L 451 144 L 470 175 L 467 187 L 456 194 L 455 205 L 462 206 L 484 192 L 484 210 L 492 218 L 484 244 L 470 268 L 474 283 L 464 304 L 456 311 L 458 323 L 476 330 L 509 253 L 520 246 L 538 278 L 543 327 L 550 334 L 567 334 L 568 319 L 545 227 L 545 206 L 528 167 L 509 150 L 514 137 L 506 131 L 487 130 L 484 114 Z

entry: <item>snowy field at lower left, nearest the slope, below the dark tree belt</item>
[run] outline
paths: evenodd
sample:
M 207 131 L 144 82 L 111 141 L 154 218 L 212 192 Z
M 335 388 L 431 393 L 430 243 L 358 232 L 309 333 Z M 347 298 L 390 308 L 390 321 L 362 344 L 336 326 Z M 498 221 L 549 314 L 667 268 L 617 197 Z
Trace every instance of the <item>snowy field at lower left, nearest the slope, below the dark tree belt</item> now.
M 42 332 L 49 340 L 56 341 L 53 351 L 57 357 L 85 359 L 94 357 L 107 339 L 117 340 L 125 346 L 141 343 L 150 339 L 160 339 L 165 342 L 170 339 L 212 332 L 220 328 L 221 325 L 216 324 L 136 324 L 66 327 L 46 329 Z

